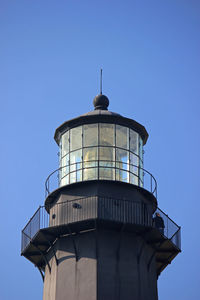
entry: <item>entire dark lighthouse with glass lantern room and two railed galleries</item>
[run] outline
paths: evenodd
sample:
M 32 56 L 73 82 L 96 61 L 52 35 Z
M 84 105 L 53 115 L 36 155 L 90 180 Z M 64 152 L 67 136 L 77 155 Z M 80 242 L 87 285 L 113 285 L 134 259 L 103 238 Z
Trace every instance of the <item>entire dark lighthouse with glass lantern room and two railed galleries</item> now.
M 21 254 L 40 271 L 43 300 L 156 300 L 157 279 L 180 252 L 180 227 L 158 208 L 143 166 L 148 133 L 108 110 L 55 131 L 60 165 L 22 230 Z

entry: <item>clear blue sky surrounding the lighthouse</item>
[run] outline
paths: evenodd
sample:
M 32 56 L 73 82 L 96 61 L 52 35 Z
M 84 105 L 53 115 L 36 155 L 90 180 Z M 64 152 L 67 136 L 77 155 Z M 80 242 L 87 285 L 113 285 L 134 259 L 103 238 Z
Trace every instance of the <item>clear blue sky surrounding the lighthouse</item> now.
M 101 67 L 110 110 L 149 132 L 145 168 L 182 226 L 159 299 L 199 296 L 200 1 L 0 0 L 2 300 L 42 299 L 21 229 L 58 167 L 54 130 L 93 109 Z

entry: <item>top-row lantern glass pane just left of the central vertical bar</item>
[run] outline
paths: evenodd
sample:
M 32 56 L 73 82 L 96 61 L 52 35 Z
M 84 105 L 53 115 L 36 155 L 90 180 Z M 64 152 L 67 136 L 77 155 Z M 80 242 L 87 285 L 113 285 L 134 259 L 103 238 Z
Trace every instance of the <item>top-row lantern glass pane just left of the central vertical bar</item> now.
M 83 147 L 98 145 L 98 124 L 83 126 Z

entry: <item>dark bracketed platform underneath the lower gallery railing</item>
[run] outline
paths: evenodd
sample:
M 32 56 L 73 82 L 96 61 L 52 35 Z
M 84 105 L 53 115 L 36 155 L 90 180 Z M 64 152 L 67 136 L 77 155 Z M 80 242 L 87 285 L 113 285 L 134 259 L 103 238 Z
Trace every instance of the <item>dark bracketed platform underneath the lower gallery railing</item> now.
M 140 236 L 154 250 L 152 259 L 155 256 L 158 276 L 181 251 L 177 246 L 179 244 L 177 239 L 180 238 L 177 234 L 168 238 L 157 228 L 152 226 L 115 222 L 111 220 L 88 219 L 39 229 L 26 243 L 27 245 L 22 249 L 21 255 L 44 271 L 45 265 L 47 264 L 47 255 L 53 249 L 57 239 L 65 235 L 71 235 L 73 238 L 74 235 L 91 230 L 96 230 L 97 232 L 98 230 L 113 230 L 122 234 L 123 232 L 130 232 Z M 77 253 L 74 254 L 77 255 Z

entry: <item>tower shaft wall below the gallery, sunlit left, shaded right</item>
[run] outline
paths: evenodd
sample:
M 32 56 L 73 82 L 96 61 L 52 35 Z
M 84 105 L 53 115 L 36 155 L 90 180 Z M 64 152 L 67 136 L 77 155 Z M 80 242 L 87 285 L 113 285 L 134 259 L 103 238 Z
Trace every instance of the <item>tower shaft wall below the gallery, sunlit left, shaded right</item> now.
M 63 237 L 56 243 L 58 266 L 49 256 L 43 300 L 157 300 L 152 253 L 132 233 L 94 230 Z

